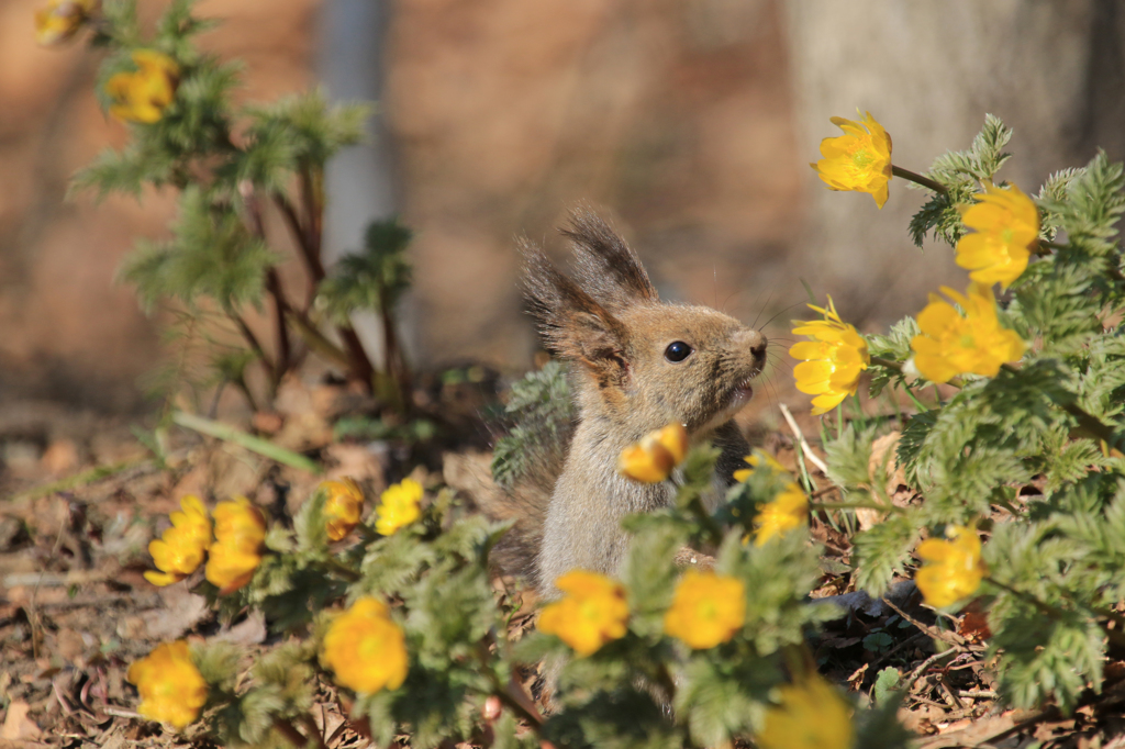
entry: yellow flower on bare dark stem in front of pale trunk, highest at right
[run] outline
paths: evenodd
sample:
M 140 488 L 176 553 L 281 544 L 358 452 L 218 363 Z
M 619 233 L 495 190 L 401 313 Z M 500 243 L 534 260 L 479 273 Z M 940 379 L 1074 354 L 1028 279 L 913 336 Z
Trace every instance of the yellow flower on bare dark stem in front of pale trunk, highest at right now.
M 866 112 L 863 123 L 832 117 L 844 135 L 820 142 L 820 155 L 809 164 L 831 190 L 870 192 L 880 208 L 886 202 L 891 179 L 891 136 Z M 864 127 L 866 126 L 866 128 Z

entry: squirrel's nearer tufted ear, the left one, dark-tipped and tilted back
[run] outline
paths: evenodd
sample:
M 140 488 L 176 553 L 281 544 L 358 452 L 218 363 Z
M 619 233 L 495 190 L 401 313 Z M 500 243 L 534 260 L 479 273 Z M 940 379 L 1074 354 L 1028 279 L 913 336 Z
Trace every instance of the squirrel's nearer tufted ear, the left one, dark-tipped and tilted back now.
M 629 377 L 624 357 L 628 328 L 577 283 L 559 272 L 542 251 L 521 242 L 526 262 L 528 307 L 551 353 L 579 362 L 601 387 L 620 387 Z

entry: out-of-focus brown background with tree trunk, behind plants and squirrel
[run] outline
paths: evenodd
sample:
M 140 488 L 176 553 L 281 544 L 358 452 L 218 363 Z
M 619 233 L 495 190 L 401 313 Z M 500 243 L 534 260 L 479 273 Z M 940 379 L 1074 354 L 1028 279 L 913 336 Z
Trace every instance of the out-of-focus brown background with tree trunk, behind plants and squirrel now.
M 35 45 L 38 0 L 0 0 L 0 432 L 28 408 L 137 414 L 159 317 L 115 269 L 161 237 L 172 196 L 66 198 L 125 128 L 92 92 L 97 53 Z M 155 13 L 162 4 L 150 3 Z M 413 362 L 531 366 L 514 238 L 565 259 L 555 227 L 596 208 L 662 295 L 742 319 L 803 317 L 802 281 L 861 328 L 965 285 L 944 245 L 914 247 L 924 195 L 883 210 L 826 190 L 808 162 L 828 118 L 870 110 L 894 162 L 968 147 L 986 112 L 1015 127 L 1001 172 L 1028 192 L 1097 147 L 1125 154 L 1125 2 L 1116 0 L 205 0 L 204 43 L 246 62 L 241 96 L 323 82 L 378 100 L 367 146 L 330 174 L 328 242 L 372 218 L 416 232 Z M 147 10 L 146 10 L 147 12 Z M 796 305 L 791 307 L 791 305 Z M 781 376 L 785 379 L 788 376 Z M 803 403 L 803 401 L 799 401 Z

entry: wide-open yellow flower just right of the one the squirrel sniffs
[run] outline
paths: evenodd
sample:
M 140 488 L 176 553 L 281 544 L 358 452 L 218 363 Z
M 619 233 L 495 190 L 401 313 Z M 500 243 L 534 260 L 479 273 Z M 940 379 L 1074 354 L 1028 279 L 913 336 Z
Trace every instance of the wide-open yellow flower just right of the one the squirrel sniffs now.
M 915 367 L 930 382 L 948 382 L 957 374 L 972 372 L 996 377 L 1000 364 L 1018 361 L 1027 346 L 1015 331 L 1000 327 L 992 289 L 970 283 L 968 296 L 948 287 L 942 291 L 961 305 L 962 316 L 953 305 L 936 294 L 918 315 L 921 335 L 910 341 Z

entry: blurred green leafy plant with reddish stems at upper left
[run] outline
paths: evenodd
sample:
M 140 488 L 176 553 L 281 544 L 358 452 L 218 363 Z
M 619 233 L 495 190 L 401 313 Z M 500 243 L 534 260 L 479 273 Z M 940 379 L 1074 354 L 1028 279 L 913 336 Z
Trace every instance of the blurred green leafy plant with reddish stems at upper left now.
M 115 103 L 110 79 L 137 71 L 138 51 L 165 55 L 174 64 L 174 94 L 155 121 L 127 123 L 127 143 L 102 151 L 80 170 L 72 190 L 99 199 L 112 193 L 141 199 L 146 189 L 179 193 L 171 238 L 138 241 L 119 279 L 136 288 L 146 312 L 171 305 L 200 323 L 192 326 L 198 336 L 220 322 L 223 332 L 206 337 L 220 341 L 223 350 L 241 340 L 249 358 L 235 372 L 218 367 L 216 377 L 187 385 L 198 389 L 232 382 L 253 404 L 262 395 L 255 399 L 244 377 L 253 364 L 267 374 L 268 405 L 284 377 L 312 351 L 378 391 L 387 405 L 406 410 L 410 373 L 394 335 L 394 316 L 395 303 L 410 285 L 404 254 L 410 233 L 393 222 L 372 224 L 366 254 L 345 259 L 331 274 L 322 256 L 328 197 L 324 169 L 342 148 L 362 141 L 370 107 L 333 105 L 320 90 L 272 103 L 235 103 L 242 65 L 196 46 L 195 37 L 215 24 L 194 16 L 192 6 L 192 0 L 174 0 L 146 33 L 137 22 L 135 0 L 102 3 L 93 22 L 93 44 L 108 53 L 96 85 L 102 107 Z M 278 272 L 292 254 L 290 243 L 304 268 L 306 290 L 287 288 Z M 322 304 L 314 304 L 317 299 Z M 351 327 L 349 314 L 361 308 L 382 318 L 387 345 L 381 371 Z M 251 312 L 272 327 L 268 339 L 254 332 Z M 326 334 L 325 327 L 334 333 Z M 184 374 L 183 368 L 174 371 Z

